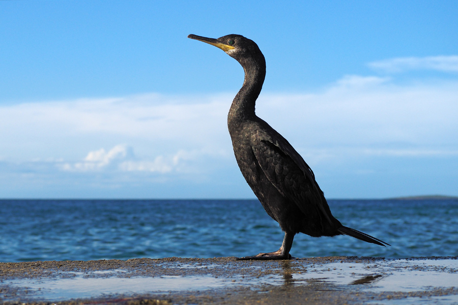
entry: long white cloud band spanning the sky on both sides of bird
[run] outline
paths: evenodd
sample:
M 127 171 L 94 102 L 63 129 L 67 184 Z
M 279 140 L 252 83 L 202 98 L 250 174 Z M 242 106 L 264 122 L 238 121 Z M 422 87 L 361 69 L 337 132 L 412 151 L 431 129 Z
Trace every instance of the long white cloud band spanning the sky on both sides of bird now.
M 128 162 L 125 170 L 164 173 L 208 156 L 233 162 L 226 125 L 231 101 L 228 94 L 151 94 L 0 106 L 0 156 L 62 159 L 67 170 L 80 171 L 121 161 Z M 453 150 L 458 82 L 399 86 L 386 78 L 345 76 L 320 93 L 262 93 L 256 111 L 304 152 L 392 143 L 395 149 Z

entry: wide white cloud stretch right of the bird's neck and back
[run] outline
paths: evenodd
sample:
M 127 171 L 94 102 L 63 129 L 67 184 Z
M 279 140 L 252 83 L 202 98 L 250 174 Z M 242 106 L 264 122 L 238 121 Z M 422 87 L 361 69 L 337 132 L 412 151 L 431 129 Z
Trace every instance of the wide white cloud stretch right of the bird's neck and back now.
M 458 81 L 400 86 L 373 77 L 348 80 L 317 94 L 262 94 L 257 113 L 303 150 L 457 148 Z

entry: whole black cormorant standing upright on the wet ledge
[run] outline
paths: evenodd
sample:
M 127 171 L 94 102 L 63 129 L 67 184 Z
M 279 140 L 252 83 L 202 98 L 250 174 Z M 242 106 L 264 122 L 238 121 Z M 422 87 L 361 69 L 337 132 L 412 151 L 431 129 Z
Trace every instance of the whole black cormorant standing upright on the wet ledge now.
M 240 171 L 267 214 L 284 232 L 278 251 L 239 259 L 291 259 L 294 235 L 350 235 L 385 246 L 388 243 L 351 229 L 335 219 L 310 167 L 293 146 L 254 113 L 266 76 L 266 60 L 254 41 L 241 35 L 218 39 L 189 35 L 235 58 L 245 71 L 242 88 L 232 102 L 227 125 Z M 385 245 L 384 245 L 385 244 Z

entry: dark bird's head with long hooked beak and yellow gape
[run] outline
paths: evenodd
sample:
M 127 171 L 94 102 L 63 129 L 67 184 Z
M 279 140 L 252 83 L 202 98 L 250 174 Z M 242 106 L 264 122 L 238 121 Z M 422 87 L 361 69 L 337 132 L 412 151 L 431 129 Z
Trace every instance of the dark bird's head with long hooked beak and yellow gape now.
M 229 56 L 237 59 L 239 63 L 242 63 L 244 59 L 253 59 L 255 57 L 262 57 L 264 59 L 264 56 L 257 44 L 242 35 L 231 34 L 214 39 L 190 34 L 188 35 L 188 38 L 218 47 Z

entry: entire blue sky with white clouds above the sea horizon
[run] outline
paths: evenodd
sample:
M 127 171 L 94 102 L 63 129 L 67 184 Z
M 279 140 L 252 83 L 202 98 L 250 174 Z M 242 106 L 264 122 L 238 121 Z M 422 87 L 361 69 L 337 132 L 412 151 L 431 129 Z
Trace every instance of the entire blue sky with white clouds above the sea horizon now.
M 259 116 L 328 198 L 458 196 L 456 1 L 0 2 L 0 197 L 253 198 L 226 115 Z

